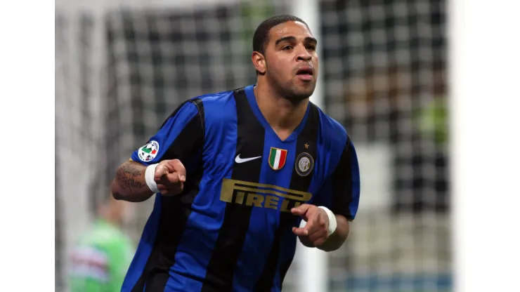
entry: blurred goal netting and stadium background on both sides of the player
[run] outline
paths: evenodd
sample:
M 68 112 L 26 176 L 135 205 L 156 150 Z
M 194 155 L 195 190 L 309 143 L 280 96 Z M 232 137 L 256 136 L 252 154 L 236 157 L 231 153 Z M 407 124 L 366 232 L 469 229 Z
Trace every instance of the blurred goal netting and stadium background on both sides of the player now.
M 56 1 L 56 291 L 117 165 L 183 100 L 253 84 L 252 32 L 295 5 L 183 2 Z M 445 5 L 319 1 L 323 108 L 356 142 L 362 175 L 326 291 L 450 291 Z M 135 241 L 150 203 L 125 220 Z M 284 291 L 297 291 L 298 259 Z

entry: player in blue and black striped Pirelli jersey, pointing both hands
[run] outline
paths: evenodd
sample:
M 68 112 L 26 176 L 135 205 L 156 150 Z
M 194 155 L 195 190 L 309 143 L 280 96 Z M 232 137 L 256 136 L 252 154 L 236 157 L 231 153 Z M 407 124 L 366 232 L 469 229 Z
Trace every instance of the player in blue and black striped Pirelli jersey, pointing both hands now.
M 309 102 L 316 46 L 303 20 L 265 20 L 256 84 L 186 100 L 119 166 L 117 199 L 156 194 L 122 291 L 280 291 L 297 237 L 342 246 L 358 161 L 345 129 Z

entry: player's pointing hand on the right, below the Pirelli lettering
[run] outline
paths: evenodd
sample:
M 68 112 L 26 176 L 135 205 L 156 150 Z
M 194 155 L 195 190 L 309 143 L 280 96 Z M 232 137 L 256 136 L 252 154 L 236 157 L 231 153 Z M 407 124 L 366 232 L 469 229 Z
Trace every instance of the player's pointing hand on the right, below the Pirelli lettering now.
M 291 213 L 299 215 L 306 221 L 304 227 L 292 227 L 304 246 L 317 247 L 329 238 L 329 217 L 322 208 L 311 204 L 301 204 L 291 209 Z

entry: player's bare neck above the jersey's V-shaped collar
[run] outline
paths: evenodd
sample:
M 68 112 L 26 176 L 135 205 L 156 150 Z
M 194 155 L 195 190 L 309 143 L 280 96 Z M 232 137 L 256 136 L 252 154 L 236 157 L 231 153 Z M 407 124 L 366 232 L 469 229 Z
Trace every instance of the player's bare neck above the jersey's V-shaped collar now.
M 261 83 L 254 87 L 254 95 L 261 113 L 280 138 L 288 137 L 304 119 L 308 98 L 293 102 Z

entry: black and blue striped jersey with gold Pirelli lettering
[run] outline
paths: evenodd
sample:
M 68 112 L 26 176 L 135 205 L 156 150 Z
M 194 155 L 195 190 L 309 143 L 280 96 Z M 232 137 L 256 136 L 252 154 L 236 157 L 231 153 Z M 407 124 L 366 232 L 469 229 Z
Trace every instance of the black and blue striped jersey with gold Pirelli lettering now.
M 280 291 L 300 218 L 327 206 L 353 220 L 360 175 L 343 126 L 309 102 L 280 140 L 253 86 L 191 98 L 132 154 L 144 165 L 180 159 L 183 192 L 155 196 L 122 291 Z

